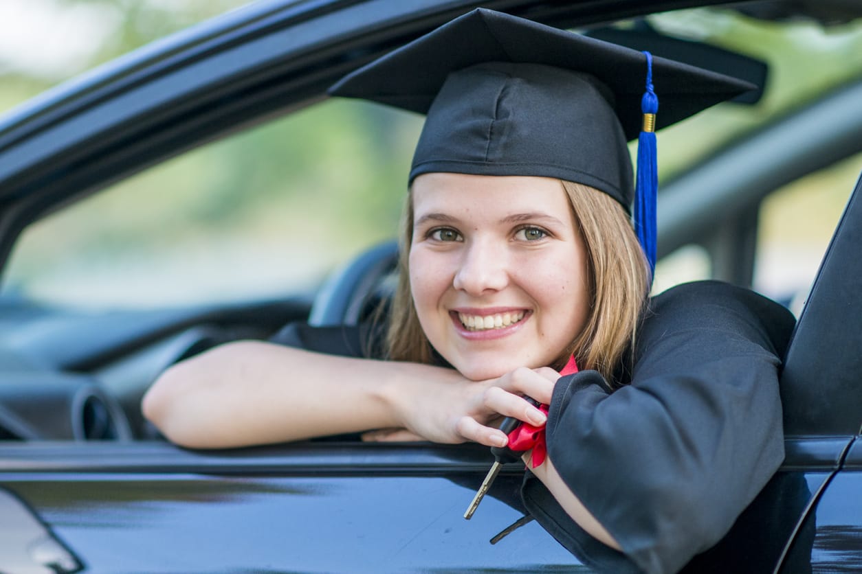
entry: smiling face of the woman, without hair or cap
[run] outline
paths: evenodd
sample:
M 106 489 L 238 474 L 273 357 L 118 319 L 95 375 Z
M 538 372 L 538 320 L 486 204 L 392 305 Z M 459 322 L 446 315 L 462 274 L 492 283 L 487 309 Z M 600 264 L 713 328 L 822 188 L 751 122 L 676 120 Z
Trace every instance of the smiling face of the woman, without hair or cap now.
M 422 330 L 472 380 L 545 367 L 584 327 L 584 240 L 562 184 L 432 173 L 413 182 L 410 289 Z

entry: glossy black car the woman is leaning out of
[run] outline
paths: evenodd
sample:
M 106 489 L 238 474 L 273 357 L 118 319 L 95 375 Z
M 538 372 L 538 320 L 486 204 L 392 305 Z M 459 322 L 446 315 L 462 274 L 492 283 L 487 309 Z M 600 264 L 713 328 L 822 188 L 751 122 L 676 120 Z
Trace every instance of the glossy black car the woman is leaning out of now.
M 748 102 L 759 109 L 756 122 L 738 119 L 733 107 L 745 102 L 702 114 L 733 124 L 711 124 L 705 139 L 713 147 L 686 142 L 709 123 L 679 128 L 683 143 L 670 149 L 687 159 L 665 168 L 659 256 L 668 270 L 658 275 L 705 261 L 712 277 L 763 288 L 759 225 L 771 197 L 829 166 L 862 168 L 862 51 L 824 60 L 841 72 L 791 111 L 770 111 L 756 103 L 763 96 L 775 104 L 770 65 L 710 45 L 703 30 L 744 14 L 769 29 L 808 19 L 849 29 L 853 39 L 862 9 L 839 1 L 704 4 L 718 3 L 481 5 L 762 86 Z M 472 521 L 463 519 L 490 466 L 487 448 L 307 441 L 202 452 L 162 440 L 141 417 L 141 396 L 175 361 L 272 336 L 293 320 L 355 324 L 385 296 L 391 242 L 320 278 L 328 260 L 394 234 L 403 189 L 379 189 L 391 185 L 379 178 L 406 174 L 398 150 L 411 147 L 421 120 L 326 100 L 326 89 L 476 6 L 253 3 L 0 117 L 0 571 L 590 571 L 535 522 L 505 531 L 523 515 L 522 465 L 505 466 Z M 659 12 L 667 15 L 645 18 Z M 703 28 L 702 39 L 680 40 L 671 28 Z M 324 127 L 351 121 L 381 151 L 348 136 L 318 139 Z M 261 157 L 230 143 L 244 138 L 276 140 L 278 153 Z M 204 144 L 215 151 L 189 151 Z M 307 166 L 360 149 L 371 155 L 352 169 Z M 178 169 L 186 159 L 192 167 Z M 222 170 L 226 163 L 243 166 L 239 179 L 226 175 L 235 174 Z M 267 179 L 270 164 L 287 164 L 296 177 Z M 273 180 L 281 193 L 264 194 Z M 853 192 L 852 182 L 842 186 L 835 193 Z M 862 570 L 862 184 L 855 187 L 816 278 L 765 283 L 789 306 L 805 301 L 781 381 L 784 465 L 725 539 L 685 571 Z M 265 215 L 249 240 L 255 257 L 269 253 L 265 261 L 237 255 L 221 239 L 250 217 L 246 200 Z M 86 225 L 79 208 L 89 210 Z M 357 222 L 360 212 L 370 224 Z M 326 222 L 311 213 L 326 213 L 337 232 L 324 233 Z M 803 238 L 815 213 L 805 216 L 810 225 L 793 231 Z M 149 239 L 141 247 L 132 238 Z M 801 265 L 803 254 L 793 257 L 791 266 Z M 141 267 L 129 267 L 132 258 Z M 213 268 L 196 280 L 172 279 L 202 260 Z M 71 303 L 76 293 L 89 306 Z M 129 297 L 143 303 L 128 306 Z

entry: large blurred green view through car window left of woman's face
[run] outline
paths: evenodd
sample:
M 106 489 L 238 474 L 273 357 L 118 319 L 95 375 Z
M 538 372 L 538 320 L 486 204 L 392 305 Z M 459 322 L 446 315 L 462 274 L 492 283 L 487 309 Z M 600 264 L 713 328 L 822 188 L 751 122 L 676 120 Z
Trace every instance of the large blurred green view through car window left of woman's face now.
M 3 293 L 146 308 L 310 292 L 394 236 L 419 127 L 333 100 L 187 152 L 29 225 Z

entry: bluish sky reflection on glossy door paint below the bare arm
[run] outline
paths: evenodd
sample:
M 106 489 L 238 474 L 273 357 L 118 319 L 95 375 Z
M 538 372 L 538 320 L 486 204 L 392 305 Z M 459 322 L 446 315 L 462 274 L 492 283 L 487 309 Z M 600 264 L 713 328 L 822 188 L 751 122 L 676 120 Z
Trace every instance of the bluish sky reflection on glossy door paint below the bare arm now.
M 346 559 L 356 572 L 578 567 L 535 522 L 492 546 L 491 537 L 522 516 L 512 496 L 521 478 L 501 476 L 482 509 L 466 522 L 462 507 L 474 487 L 466 476 L 150 479 L 139 474 L 107 481 L 103 475 L 79 474 L 68 477 L 72 480 L 31 476 L 5 484 L 86 556 L 92 571 L 195 571 L 202 556 L 224 571 L 344 571 Z M 142 552 L 142 544 L 196 550 Z

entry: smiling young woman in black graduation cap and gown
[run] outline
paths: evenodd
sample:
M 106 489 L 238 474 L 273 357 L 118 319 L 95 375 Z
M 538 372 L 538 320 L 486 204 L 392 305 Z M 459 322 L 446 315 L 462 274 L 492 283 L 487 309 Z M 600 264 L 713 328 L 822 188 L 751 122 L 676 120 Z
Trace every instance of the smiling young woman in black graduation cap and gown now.
M 384 353 L 301 326 L 303 349 L 231 343 L 164 373 L 147 418 L 189 447 L 359 432 L 503 446 L 501 417 L 547 423 L 531 514 L 589 565 L 678 570 L 784 456 L 777 357 L 793 318 L 719 283 L 645 311 L 626 142 L 649 73 L 665 123 L 746 89 L 489 10 L 354 72 L 335 94 L 428 114 Z M 580 372 L 561 377 L 570 361 Z

